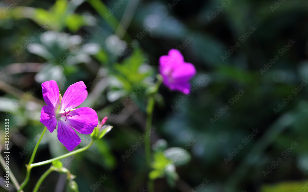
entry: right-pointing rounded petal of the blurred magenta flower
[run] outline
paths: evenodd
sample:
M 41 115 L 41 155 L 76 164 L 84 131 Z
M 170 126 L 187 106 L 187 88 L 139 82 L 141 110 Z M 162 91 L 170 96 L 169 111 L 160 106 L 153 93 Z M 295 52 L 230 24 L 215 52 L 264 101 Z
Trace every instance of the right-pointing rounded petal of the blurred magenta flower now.
M 171 77 L 174 80 L 189 81 L 196 74 L 196 68 L 191 63 L 182 63 L 175 67 L 172 71 Z

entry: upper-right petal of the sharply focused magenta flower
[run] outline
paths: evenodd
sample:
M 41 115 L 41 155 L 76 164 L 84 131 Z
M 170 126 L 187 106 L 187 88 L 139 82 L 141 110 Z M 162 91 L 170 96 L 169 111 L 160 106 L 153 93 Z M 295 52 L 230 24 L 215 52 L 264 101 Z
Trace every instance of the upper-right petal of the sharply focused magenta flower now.
M 79 81 L 69 86 L 61 100 L 61 112 L 74 109 L 79 106 L 88 96 L 87 87 L 83 81 Z

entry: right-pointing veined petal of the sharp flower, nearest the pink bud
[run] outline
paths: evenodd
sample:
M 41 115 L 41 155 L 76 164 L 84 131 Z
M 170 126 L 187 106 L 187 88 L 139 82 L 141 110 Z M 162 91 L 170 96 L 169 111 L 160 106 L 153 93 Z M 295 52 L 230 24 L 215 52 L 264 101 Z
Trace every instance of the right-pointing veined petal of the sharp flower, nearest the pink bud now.
M 70 117 L 71 116 L 71 117 Z M 82 134 L 90 134 L 98 124 L 95 110 L 90 107 L 81 107 L 67 114 L 66 122 Z

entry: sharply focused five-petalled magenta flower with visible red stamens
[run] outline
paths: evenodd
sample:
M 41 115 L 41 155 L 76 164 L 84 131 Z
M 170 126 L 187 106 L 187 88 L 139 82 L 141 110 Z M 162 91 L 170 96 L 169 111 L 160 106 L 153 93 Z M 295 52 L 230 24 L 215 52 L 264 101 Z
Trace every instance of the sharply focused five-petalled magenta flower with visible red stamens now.
M 93 109 L 75 108 L 87 98 L 86 86 L 82 81 L 74 83 L 65 91 L 63 98 L 59 94 L 57 83 L 53 80 L 43 82 L 42 89 L 47 106 L 43 106 L 39 121 L 50 132 L 57 128 L 59 141 L 67 150 L 72 151 L 81 141 L 75 130 L 82 134 L 90 134 L 98 124 L 97 114 Z

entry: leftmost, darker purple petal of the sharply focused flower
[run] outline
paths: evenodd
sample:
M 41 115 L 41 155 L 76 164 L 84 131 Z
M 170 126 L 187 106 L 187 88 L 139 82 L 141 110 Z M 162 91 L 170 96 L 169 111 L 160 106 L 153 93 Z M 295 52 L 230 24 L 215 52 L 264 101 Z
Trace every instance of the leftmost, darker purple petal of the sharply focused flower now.
M 43 106 L 41 111 L 41 118 L 39 119 L 43 125 L 52 133 L 57 126 L 57 119 L 55 116 L 55 110 L 50 106 Z

